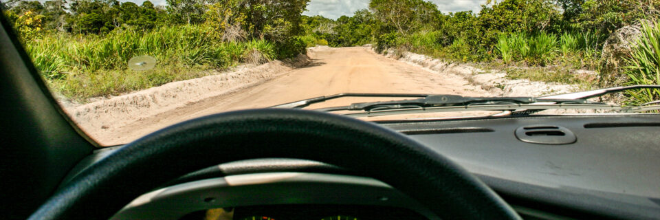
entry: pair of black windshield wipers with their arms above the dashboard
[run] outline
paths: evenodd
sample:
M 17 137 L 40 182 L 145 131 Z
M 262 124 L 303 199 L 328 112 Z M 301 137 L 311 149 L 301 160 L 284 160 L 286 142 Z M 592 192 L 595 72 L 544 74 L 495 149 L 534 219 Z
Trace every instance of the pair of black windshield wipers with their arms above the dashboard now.
M 513 111 L 513 114 L 530 114 L 547 109 L 609 109 L 625 112 L 640 112 L 660 109 L 660 105 L 621 107 L 619 105 L 605 104 L 602 102 L 591 102 L 589 98 L 596 98 L 605 94 L 611 94 L 631 89 L 660 89 L 660 85 L 632 85 L 627 87 L 611 87 L 596 89 L 592 91 L 581 91 L 571 94 L 560 94 L 542 97 L 467 97 L 448 94 L 335 94 L 332 96 L 320 96 L 308 98 L 296 102 L 276 105 L 273 108 L 295 108 L 308 107 L 310 104 L 325 102 L 343 97 L 396 97 L 415 98 L 406 100 L 393 100 L 382 102 L 358 102 L 342 107 L 329 107 L 315 109 L 317 111 L 363 111 L 370 114 L 395 113 L 399 111 L 458 111 L 487 110 L 487 111 Z M 643 105 L 656 104 L 655 102 Z M 362 113 L 357 113 L 362 114 Z

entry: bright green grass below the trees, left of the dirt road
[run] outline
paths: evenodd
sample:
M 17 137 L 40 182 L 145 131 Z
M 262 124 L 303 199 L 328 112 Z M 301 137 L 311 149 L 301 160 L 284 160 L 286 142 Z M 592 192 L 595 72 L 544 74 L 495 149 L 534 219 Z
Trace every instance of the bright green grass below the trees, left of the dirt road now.
M 208 25 L 179 25 L 106 36 L 45 34 L 25 42 L 25 49 L 54 92 L 78 102 L 205 76 L 206 69 L 276 58 L 273 43 L 223 42 L 212 32 Z M 127 61 L 138 55 L 155 57 L 157 67 L 128 69 Z

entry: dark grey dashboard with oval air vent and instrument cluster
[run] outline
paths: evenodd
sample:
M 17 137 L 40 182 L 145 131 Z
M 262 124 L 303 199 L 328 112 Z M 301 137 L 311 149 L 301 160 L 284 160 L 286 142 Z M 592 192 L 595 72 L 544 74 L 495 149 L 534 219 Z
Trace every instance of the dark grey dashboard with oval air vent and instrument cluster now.
M 660 217 L 658 115 L 377 123 L 467 168 L 525 219 Z M 67 179 L 120 147 L 96 151 Z M 208 219 L 209 213 L 232 219 L 434 218 L 377 179 L 320 162 L 266 158 L 190 173 L 138 197 L 113 219 Z

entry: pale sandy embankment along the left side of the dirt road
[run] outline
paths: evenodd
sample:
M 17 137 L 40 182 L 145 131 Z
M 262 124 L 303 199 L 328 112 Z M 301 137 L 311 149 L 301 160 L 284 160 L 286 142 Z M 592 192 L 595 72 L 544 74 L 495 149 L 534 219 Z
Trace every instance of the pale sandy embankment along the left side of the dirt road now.
M 299 55 L 288 61 L 271 61 L 258 66 L 244 65 L 232 72 L 167 83 L 88 104 L 74 106 L 63 103 L 63 106 L 83 131 L 98 133 L 98 130 L 115 129 L 116 126 L 130 124 L 206 98 L 223 96 L 259 85 L 296 67 L 307 65 L 309 61 L 308 56 Z M 112 126 L 109 125 L 110 122 Z

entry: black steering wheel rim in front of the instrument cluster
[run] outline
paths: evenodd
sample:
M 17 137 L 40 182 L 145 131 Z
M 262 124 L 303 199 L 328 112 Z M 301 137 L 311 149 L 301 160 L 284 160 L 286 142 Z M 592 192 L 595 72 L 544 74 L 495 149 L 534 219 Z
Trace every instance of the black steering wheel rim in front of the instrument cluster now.
M 397 188 L 442 219 L 520 219 L 476 177 L 415 140 L 371 122 L 293 109 L 219 113 L 146 135 L 84 170 L 30 219 L 108 219 L 181 175 L 266 157 L 354 170 Z

